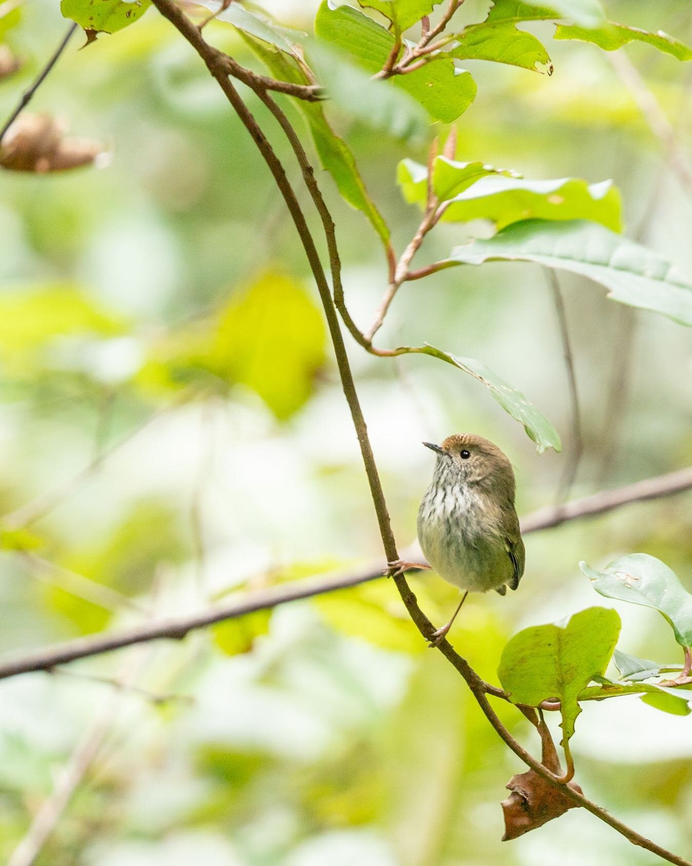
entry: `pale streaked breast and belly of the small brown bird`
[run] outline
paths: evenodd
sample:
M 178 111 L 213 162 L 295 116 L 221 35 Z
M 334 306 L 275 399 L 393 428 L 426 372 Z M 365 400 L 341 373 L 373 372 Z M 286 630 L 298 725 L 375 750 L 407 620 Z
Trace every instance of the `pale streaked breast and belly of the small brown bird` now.
M 477 531 L 473 509 L 464 498 L 454 507 L 424 500 L 418 515 L 418 540 L 441 578 L 461 590 L 487 592 L 509 583 L 513 566 L 504 540 Z

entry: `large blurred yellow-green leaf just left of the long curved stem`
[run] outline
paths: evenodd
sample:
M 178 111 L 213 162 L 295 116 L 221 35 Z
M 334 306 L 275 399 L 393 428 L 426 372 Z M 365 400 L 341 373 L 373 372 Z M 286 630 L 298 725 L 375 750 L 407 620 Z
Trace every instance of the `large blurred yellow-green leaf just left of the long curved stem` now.
M 322 315 L 302 285 L 279 274 L 234 295 L 212 339 L 208 365 L 256 391 L 280 420 L 311 396 L 324 364 Z

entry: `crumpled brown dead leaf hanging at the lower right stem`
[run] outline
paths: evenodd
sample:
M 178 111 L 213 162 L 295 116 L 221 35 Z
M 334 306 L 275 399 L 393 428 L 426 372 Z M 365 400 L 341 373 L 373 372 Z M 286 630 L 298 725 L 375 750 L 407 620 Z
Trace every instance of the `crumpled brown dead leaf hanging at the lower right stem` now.
M 560 818 L 567 809 L 579 805 L 567 797 L 561 788 L 551 785 L 534 770 L 513 776 L 507 787 L 511 793 L 501 804 L 504 813 L 503 842 L 523 836 L 553 818 Z M 570 782 L 568 787 L 582 792 L 575 782 Z

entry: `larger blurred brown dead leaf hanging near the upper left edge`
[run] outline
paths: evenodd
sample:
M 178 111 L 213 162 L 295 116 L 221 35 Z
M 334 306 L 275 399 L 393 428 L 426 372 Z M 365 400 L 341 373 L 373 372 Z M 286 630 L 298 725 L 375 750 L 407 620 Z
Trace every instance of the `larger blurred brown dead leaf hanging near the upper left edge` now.
M 4 135 L 0 165 L 42 174 L 103 164 L 107 154 L 99 141 L 68 138 L 64 133 L 64 125 L 48 114 L 22 113 Z

